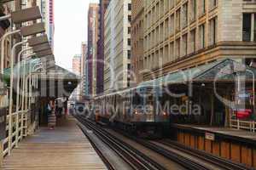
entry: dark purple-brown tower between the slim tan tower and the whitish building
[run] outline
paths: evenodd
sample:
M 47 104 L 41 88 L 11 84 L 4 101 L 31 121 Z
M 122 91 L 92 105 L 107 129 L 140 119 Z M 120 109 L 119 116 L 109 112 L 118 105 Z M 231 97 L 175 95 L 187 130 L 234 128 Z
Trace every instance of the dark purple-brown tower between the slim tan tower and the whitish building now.
M 100 0 L 100 23 L 99 23 L 99 40 L 97 42 L 97 77 L 96 77 L 96 94 L 104 92 L 104 14 L 108 8 L 110 0 Z

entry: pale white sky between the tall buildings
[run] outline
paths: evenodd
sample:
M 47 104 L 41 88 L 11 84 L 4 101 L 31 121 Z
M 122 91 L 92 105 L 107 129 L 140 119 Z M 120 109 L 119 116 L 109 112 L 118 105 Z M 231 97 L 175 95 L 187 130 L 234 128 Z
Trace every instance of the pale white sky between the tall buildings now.
M 89 3 L 98 0 L 55 0 L 55 60 L 69 71 L 73 55 L 81 54 L 81 43 L 87 40 Z

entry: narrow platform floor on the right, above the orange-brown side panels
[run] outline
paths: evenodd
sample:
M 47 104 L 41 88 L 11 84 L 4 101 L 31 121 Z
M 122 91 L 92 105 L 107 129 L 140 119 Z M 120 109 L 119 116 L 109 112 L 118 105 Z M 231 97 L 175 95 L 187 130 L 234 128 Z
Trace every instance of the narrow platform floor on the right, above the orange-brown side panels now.
M 207 126 L 196 126 L 196 125 L 184 125 L 184 124 L 174 124 L 173 127 L 181 127 L 181 128 L 191 128 L 200 131 L 205 131 L 209 133 L 218 133 L 226 136 L 248 139 L 256 142 L 256 133 L 252 133 L 246 130 L 239 130 L 236 128 L 230 127 L 207 127 Z

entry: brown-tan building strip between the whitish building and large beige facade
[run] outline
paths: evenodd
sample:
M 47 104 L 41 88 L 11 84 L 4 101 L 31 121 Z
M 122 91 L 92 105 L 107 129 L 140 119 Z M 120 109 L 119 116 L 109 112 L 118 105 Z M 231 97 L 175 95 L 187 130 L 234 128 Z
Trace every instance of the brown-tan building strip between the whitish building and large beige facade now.
M 138 61 L 143 60 L 144 3 L 147 0 L 131 0 L 131 80 L 142 82 L 143 74 Z

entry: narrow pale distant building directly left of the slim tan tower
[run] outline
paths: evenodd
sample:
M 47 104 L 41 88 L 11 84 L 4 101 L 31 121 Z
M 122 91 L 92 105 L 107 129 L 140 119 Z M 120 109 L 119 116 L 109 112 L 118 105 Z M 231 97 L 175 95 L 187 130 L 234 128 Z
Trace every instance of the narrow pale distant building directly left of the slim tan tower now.
M 81 94 L 84 96 L 85 95 L 85 81 L 86 81 L 86 77 L 85 77 L 85 59 L 87 56 L 87 44 L 85 42 L 82 42 L 81 45 Z

